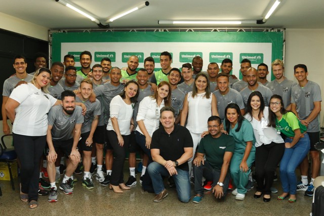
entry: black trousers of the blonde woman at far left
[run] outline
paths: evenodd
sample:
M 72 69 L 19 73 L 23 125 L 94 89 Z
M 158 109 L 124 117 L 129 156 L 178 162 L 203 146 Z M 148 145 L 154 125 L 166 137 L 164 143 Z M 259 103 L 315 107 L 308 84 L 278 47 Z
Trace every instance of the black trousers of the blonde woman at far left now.
M 46 135 L 31 137 L 13 134 L 13 143 L 21 163 L 21 192 L 28 194 L 29 201 L 37 201 L 39 160 L 44 153 Z

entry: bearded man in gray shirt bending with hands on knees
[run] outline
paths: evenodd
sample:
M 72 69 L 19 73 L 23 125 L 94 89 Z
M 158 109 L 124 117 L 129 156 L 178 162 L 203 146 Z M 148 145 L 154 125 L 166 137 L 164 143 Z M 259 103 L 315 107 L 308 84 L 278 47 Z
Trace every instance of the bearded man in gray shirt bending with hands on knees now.
M 71 194 L 73 192 L 73 188 L 71 187 L 73 180 L 71 177 L 80 161 L 77 143 L 80 138 L 82 123 L 84 122 L 82 108 L 75 106 L 75 94 L 71 91 L 67 90 L 62 92 L 61 98 L 62 105 L 52 107 L 48 114 L 49 126 L 45 152 L 47 155 L 47 170 L 51 184 L 49 202 L 57 201 L 57 187 L 55 185 L 56 152 L 61 150 L 70 160 L 59 187 L 65 194 Z

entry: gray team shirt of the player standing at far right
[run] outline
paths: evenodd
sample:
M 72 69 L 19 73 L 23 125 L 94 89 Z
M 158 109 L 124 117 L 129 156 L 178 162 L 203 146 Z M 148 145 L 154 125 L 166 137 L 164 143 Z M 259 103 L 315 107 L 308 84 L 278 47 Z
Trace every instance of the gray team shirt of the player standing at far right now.
M 309 81 L 304 88 L 299 84 L 294 85 L 292 89 L 292 103 L 296 104 L 297 113 L 301 120 L 306 119 L 314 109 L 314 102 L 322 101 L 320 88 L 316 82 Z M 320 131 L 320 115 L 309 122 L 307 132 Z

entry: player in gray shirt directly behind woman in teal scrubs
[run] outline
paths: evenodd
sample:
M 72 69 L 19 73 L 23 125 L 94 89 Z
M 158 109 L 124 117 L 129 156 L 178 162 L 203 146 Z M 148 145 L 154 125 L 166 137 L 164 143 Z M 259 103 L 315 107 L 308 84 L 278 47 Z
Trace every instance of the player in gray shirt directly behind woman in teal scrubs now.
M 241 115 L 245 114 L 244 102 L 242 96 L 234 89 L 229 88 L 228 74 L 221 72 L 217 75 L 218 90 L 213 94 L 217 98 L 217 109 L 222 122 L 225 119 L 225 108 L 228 104 L 235 103 L 238 105 Z

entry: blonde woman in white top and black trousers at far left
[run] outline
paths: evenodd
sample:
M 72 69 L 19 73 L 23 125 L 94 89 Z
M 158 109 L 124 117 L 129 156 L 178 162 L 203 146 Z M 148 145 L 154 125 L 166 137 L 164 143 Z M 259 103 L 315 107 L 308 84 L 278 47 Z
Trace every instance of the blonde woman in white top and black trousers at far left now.
M 44 152 L 48 128 L 47 113 L 61 101 L 53 98 L 48 87 L 51 71 L 41 68 L 30 83 L 13 90 L 6 111 L 13 122 L 13 143 L 21 162 L 20 199 L 29 201 L 29 207 L 38 206 L 39 161 Z

